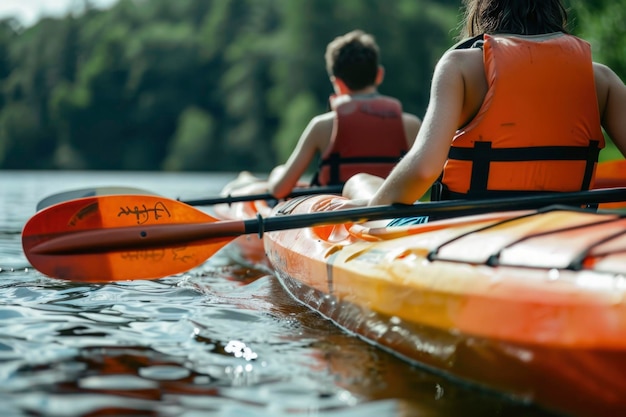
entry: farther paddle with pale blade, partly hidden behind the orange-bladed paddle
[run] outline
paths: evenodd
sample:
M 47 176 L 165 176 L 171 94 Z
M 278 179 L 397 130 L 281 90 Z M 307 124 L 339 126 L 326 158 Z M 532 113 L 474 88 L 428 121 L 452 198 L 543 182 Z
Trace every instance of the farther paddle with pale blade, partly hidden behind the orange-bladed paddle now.
M 294 188 L 289 198 L 300 197 L 303 195 L 312 194 L 341 194 L 342 186 L 331 185 L 325 187 L 303 187 Z M 95 197 L 103 195 L 118 195 L 118 194 L 141 194 L 141 195 L 156 195 L 150 191 L 142 190 L 141 188 L 134 187 L 94 187 L 94 188 L 82 188 L 78 190 L 63 191 L 57 194 L 49 195 L 37 203 L 37 211 L 40 211 L 46 207 L 54 204 L 61 203 L 63 201 L 75 200 L 77 198 Z M 217 197 L 207 197 L 196 200 L 184 200 L 185 204 L 190 206 L 210 206 L 213 204 L 230 204 L 243 201 L 255 201 L 255 200 L 271 200 L 275 198 L 269 193 L 262 194 L 250 194 L 250 195 L 227 195 Z

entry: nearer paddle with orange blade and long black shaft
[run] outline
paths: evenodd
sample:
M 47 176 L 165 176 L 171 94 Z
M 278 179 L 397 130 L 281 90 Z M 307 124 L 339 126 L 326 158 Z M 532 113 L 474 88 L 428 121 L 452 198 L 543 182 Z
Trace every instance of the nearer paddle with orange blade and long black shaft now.
M 26 257 L 50 277 L 83 282 L 152 279 L 187 271 L 244 234 L 414 215 L 455 217 L 626 200 L 626 188 L 531 197 L 391 205 L 218 221 L 179 201 L 112 195 L 60 203 L 24 226 Z

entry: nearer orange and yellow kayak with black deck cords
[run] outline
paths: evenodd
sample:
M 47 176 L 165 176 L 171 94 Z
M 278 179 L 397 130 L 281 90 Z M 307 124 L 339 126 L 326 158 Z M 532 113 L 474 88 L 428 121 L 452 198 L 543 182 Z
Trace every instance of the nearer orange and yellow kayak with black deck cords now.
M 315 213 L 337 196 L 279 203 Z M 421 367 L 572 416 L 626 412 L 626 218 L 564 206 L 266 232 L 298 301 Z

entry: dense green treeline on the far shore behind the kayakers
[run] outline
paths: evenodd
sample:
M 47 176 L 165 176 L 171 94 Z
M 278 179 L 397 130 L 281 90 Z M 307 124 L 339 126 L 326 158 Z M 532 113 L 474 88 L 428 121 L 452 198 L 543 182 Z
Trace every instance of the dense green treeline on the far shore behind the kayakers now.
M 626 0 L 571 0 L 626 75 Z M 619 3 L 619 5 L 618 5 Z M 422 115 L 459 0 L 120 0 L 0 21 L 0 168 L 266 171 L 326 109 L 326 44 L 373 33 L 381 92 Z M 596 47 L 598 45 L 598 47 Z

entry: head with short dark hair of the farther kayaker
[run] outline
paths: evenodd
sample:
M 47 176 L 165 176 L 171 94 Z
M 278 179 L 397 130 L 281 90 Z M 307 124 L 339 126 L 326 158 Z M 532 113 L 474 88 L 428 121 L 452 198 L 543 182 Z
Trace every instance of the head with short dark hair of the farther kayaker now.
M 354 30 L 336 37 L 326 47 L 326 70 L 340 78 L 351 90 L 360 90 L 376 82 L 380 50 L 374 37 Z

